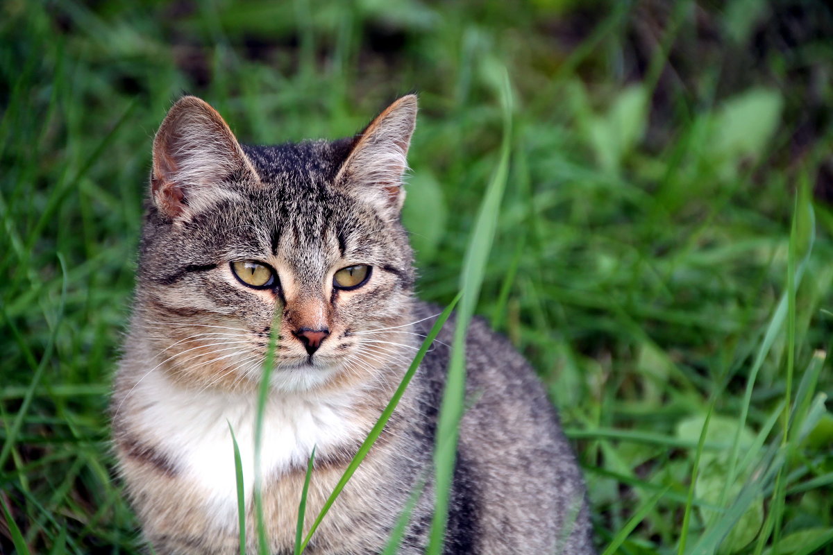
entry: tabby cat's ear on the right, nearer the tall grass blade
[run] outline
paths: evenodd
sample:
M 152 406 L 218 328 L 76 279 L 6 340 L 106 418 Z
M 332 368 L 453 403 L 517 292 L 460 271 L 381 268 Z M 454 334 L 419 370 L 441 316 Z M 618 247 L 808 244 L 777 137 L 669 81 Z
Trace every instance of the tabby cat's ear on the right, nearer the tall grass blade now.
M 407 169 L 414 126 L 416 95 L 409 94 L 393 102 L 358 135 L 338 171 L 336 186 L 347 188 L 382 213 L 397 217 L 405 201 L 402 174 Z

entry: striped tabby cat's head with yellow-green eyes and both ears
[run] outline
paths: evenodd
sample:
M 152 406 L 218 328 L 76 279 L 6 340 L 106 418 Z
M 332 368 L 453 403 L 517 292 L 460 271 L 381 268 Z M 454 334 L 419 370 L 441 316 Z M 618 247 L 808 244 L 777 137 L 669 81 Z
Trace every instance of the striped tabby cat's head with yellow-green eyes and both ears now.
M 183 97 L 153 141 L 134 337 L 201 387 L 364 383 L 407 364 L 414 281 L 399 221 L 416 97 L 340 141 L 241 145 Z M 402 333 L 400 333 L 402 332 Z M 398 344 L 398 345 L 397 345 Z

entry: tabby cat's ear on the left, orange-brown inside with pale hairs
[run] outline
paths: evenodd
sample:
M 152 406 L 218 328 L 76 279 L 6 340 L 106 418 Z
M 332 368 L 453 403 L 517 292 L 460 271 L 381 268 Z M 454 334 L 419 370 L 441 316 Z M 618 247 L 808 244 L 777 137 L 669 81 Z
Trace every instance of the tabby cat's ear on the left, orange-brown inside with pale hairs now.
M 234 196 L 225 183 L 250 180 L 257 174 L 217 110 L 197 97 L 180 98 L 153 139 L 151 196 L 159 211 L 190 219 Z

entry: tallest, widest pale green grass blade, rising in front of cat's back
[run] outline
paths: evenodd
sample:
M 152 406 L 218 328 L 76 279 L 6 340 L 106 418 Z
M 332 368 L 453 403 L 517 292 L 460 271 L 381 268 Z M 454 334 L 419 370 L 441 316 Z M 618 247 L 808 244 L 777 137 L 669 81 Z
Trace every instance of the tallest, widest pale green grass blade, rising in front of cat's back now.
M 501 199 L 506 188 L 509 174 L 509 155 L 511 151 L 511 86 L 506 69 L 503 70 L 501 82 L 501 103 L 503 107 L 503 140 L 501 157 L 494 176 L 486 189 L 471 239 L 466 249 L 461 275 L 462 300 L 457 313 L 454 330 L 454 344 L 451 348 L 451 362 L 448 366 L 446 388 L 443 392 L 439 421 L 436 427 L 436 447 L 434 451 L 435 493 L 434 517 L 428 535 L 427 555 L 442 553 L 446 534 L 448 501 L 451 493 L 451 480 L 454 475 L 457 448 L 457 427 L 462 417 L 464 394 L 466 390 L 466 331 L 474 315 L 480 287 L 486 272 L 486 260 L 494 240 L 497 218 L 501 209 Z

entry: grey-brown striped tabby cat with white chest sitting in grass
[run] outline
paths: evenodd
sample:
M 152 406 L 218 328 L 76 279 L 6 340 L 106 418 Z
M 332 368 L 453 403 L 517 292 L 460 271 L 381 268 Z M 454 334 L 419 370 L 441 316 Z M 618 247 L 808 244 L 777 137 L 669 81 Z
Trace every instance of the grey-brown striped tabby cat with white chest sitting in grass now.
M 245 146 L 197 97 L 168 111 L 153 141 L 111 403 L 119 472 L 154 553 L 239 553 L 230 429 L 247 553 L 257 553 L 254 423 L 271 334 L 261 456 L 269 553 L 293 553 L 313 447 L 307 526 L 391 398 L 440 311 L 414 297 L 400 222 L 415 124 L 408 95 L 357 136 Z M 421 483 L 400 553 L 425 552 L 453 328 L 452 318 L 305 553 L 380 553 Z M 467 334 L 471 406 L 444 553 L 594 553 L 581 473 L 541 384 L 483 322 Z

